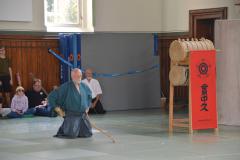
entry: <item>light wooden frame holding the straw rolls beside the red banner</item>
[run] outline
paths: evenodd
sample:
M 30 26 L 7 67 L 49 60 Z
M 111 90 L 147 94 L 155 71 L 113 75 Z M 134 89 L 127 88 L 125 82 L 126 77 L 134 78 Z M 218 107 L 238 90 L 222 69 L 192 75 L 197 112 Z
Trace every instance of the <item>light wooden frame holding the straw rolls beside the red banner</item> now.
M 190 51 L 188 51 L 190 52 Z M 171 60 L 170 68 L 174 65 L 179 65 L 179 66 L 188 66 L 189 67 L 189 85 L 186 86 L 188 87 L 189 94 L 188 94 L 188 117 L 187 118 L 174 118 L 174 85 L 170 81 L 170 90 L 169 90 L 169 133 L 173 132 L 174 127 L 179 127 L 179 128 L 187 128 L 190 134 L 193 134 L 194 131 L 192 128 L 192 94 L 191 94 L 191 67 L 189 65 L 189 60 L 185 61 L 180 61 L 180 62 L 174 62 Z M 218 127 L 214 128 L 214 133 L 218 133 Z

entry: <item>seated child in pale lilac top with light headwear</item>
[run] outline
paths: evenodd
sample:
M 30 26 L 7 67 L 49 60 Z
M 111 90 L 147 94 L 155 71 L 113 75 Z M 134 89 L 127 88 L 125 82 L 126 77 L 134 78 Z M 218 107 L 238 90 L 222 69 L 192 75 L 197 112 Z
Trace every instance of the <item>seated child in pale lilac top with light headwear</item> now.
M 35 109 L 28 109 L 28 98 L 24 94 L 24 88 L 18 86 L 11 103 L 11 112 L 8 118 L 22 118 L 24 115 L 34 114 Z

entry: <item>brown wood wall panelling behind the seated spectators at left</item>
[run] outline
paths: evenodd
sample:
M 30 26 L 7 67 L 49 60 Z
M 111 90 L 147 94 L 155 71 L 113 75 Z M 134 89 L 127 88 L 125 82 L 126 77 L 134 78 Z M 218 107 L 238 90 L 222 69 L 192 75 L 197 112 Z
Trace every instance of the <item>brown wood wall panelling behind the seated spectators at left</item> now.
M 20 74 L 25 89 L 32 87 L 30 73 L 42 80 L 48 92 L 54 85 L 59 85 L 59 61 L 48 53 L 48 48 L 58 51 L 57 37 L 0 35 L 0 46 L 5 46 L 6 55 L 12 61 L 14 90 L 17 86 L 16 73 Z

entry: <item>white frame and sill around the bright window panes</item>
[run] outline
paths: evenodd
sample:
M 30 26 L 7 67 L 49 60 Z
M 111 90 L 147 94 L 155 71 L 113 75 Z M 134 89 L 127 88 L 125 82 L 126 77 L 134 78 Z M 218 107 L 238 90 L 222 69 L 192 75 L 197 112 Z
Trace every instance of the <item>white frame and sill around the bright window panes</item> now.
M 44 23 L 47 32 L 94 32 L 92 0 L 78 0 L 78 24 L 47 23 L 47 1 L 44 0 Z

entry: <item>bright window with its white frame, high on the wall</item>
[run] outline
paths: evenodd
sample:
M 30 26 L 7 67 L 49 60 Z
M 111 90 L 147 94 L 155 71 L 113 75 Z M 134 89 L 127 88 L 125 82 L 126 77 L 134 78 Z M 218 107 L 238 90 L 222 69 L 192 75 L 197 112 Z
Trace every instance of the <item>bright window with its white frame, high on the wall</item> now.
M 45 0 L 45 25 L 50 32 L 93 32 L 92 0 Z

